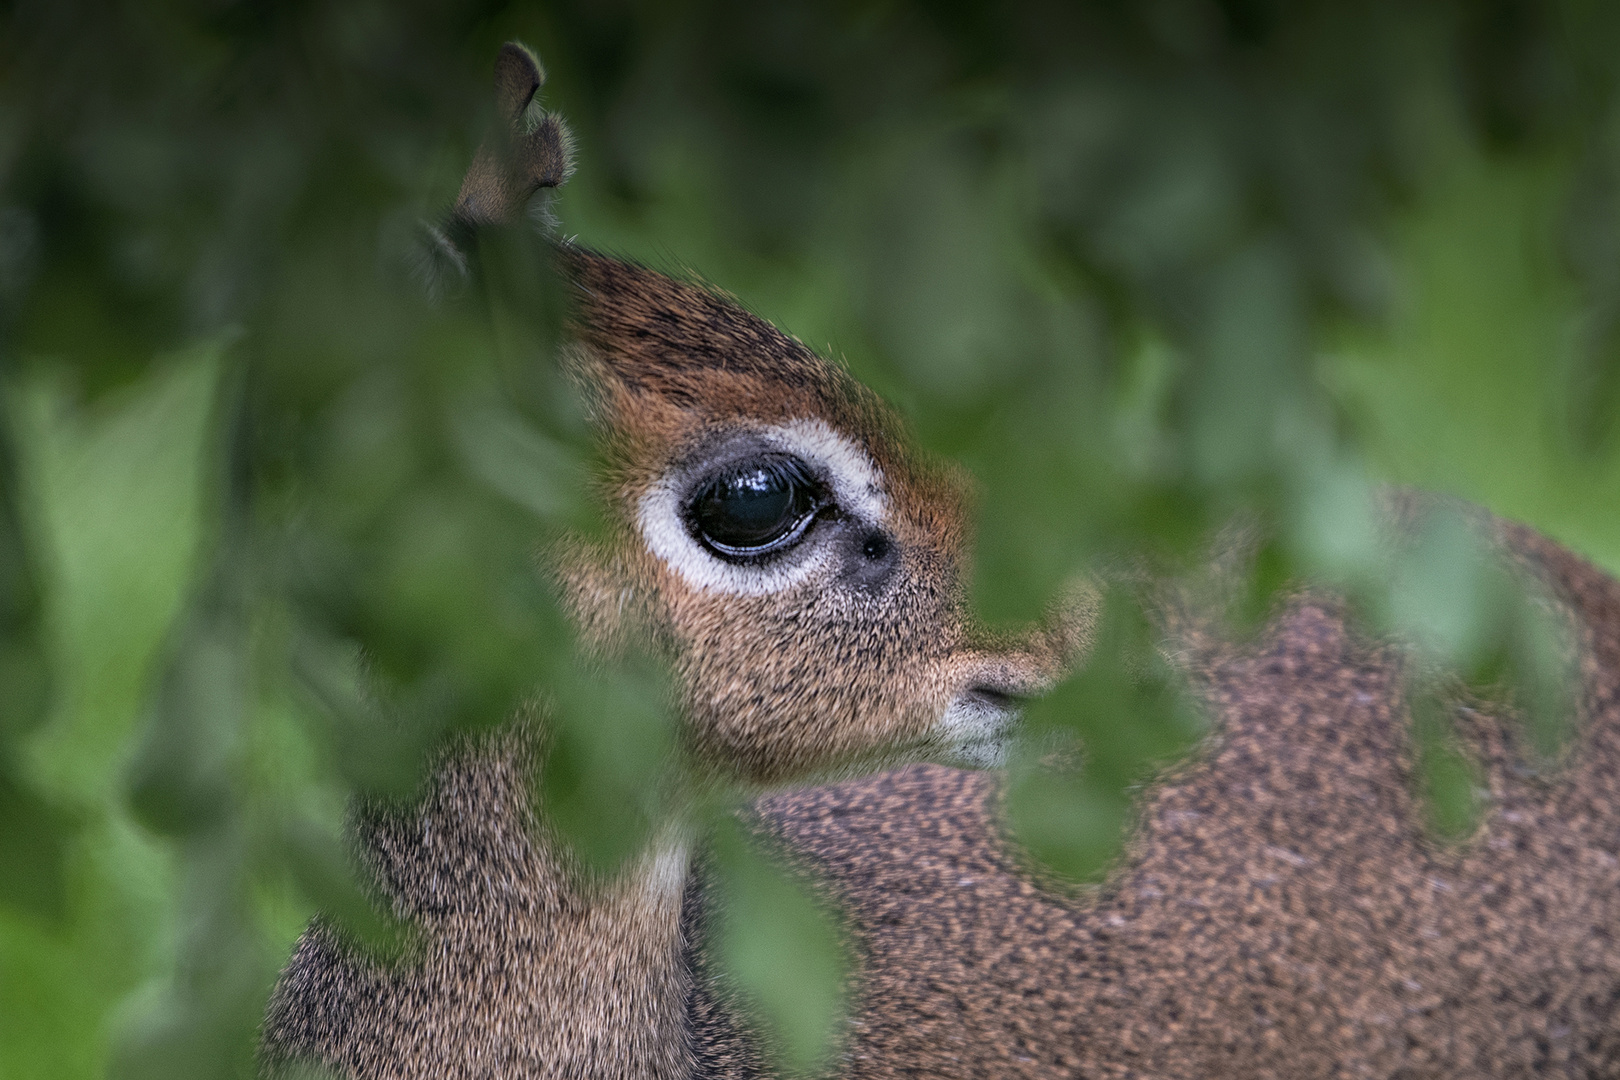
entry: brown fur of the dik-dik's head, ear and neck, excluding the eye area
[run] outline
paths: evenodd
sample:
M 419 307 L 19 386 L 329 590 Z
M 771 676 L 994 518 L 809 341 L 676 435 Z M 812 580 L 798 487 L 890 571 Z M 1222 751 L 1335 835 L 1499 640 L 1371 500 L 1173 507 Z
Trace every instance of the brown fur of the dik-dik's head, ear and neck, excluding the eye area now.
M 531 53 L 502 49 L 512 130 L 480 151 L 437 241 L 512 220 L 567 175 L 557 125 L 525 120 L 541 81 Z M 770 784 L 938 751 L 932 729 L 954 695 L 1037 690 L 1084 646 L 1076 604 L 1013 638 L 969 623 L 962 478 L 915 455 L 842 368 L 701 287 L 575 246 L 556 254 L 577 285 L 572 368 L 604 439 L 609 528 L 557 544 L 551 565 L 588 644 L 637 636 L 672 661 L 690 769 Z M 893 563 L 876 580 L 834 565 L 770 596 L 690 586 L 638 534 L 638 499 L 713 439 L 781 421 L 825 423 L 872 460 Z M 384 963 L 313 926 L 271 1002 L 267 1072 L 314 1061 L 355 1080 L 663 1078 L 692 1070 L 693 1043 L 758 1061 L 708 983 L 692 989 L 688 972 L 706 968 L 684 950 L 679 860 L 648 852 L 640 871 L 591 886 L 557 853 L 530 789 L 536 724 L 447 750 L 420 806 L 361 814 L 363 861 L 418 946 Z M 687 910 L 701 912 L 695 892 Z M 701 938 L 701 920 L 692 929 Z

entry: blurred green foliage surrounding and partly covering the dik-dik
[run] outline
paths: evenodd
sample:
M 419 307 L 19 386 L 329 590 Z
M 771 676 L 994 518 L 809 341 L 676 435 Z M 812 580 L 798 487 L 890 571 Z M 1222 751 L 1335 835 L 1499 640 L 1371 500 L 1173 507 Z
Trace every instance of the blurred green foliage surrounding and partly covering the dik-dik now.
M 663 675 L 582 669 L 533 560 L 593 526 L 565 288 L 491 236 L 428 301 L 416 257 L 509 37 L 578 136 L 567 233 L 700 269 L 972 470 L 985 619 L 1121 555 L 1187 565 L 1246 513 L 1273 536 L 1241 620 L 1311 573 L 1421 649 L 1439 834 L 1479 811 L 1434 708 L 1453 675 L 1557 756 L 1545 615 L 1452 518 L 1380 547 L 1374 492 L 1620 568 L 1607 5 L 18 0 L 0 1077 L 248 1074 L 316 908 L 387 938 L 343 806 L 407 797 L 446 732 L 554 703 L 543 792 L 591 865 L 667 806 Z M 1011 811 L 1066 876 L 1199 737 L 1153 646 L 1111 601 L 1097 661 L 1030 709 Z M 834 934 L 735 852 L 726 955 L 812 1069 Z

